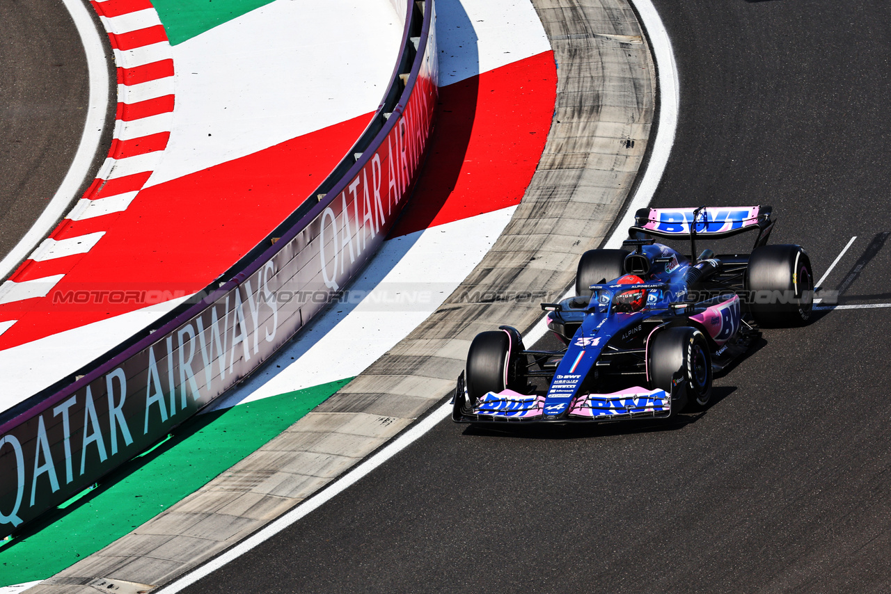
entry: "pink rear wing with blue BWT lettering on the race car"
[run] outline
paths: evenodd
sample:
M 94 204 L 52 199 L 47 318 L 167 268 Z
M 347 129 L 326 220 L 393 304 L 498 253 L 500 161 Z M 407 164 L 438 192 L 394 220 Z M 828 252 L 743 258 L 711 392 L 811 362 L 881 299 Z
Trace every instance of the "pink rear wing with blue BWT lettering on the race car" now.
M 697 237 L 717 239 L 757 231 L 755 247 L 767 243 L 773 221 L 773 207 L 641 208 L 634 213 L 634 226 L 628 233 L 646 233 L 668 240 L 690 239 L 695 249 Z M 691 254 L 695 256 L 695 253 Z

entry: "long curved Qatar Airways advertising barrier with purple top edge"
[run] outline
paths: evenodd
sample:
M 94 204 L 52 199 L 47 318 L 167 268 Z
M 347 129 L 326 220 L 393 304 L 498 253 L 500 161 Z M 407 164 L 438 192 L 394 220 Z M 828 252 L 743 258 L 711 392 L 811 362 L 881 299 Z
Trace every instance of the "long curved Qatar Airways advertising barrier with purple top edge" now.
M 0 419 L 0 534 L 96 483 L 223 395 L 379 248 L 412 191 L 437 102 L 433 2 L 393 4 L 406 14 L 403 56 L 377 116 L 380 130 L 335 169 L 344 174 L 330 176 L 308 212 L 199 303 Z

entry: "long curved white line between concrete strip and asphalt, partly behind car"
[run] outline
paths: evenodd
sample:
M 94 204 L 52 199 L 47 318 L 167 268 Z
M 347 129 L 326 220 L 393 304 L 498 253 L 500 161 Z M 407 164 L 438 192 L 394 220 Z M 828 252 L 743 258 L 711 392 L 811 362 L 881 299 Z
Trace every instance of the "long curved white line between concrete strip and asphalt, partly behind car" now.
M 637 193 L 634 195 L 631 205 L 628 207 L 628 214 L 634 217 L 634 210 L 636 208 L 641 208 L 650 204 L 650 199 L 652 199 L 659 180 L 662 178 L 662 174 L 665 171 L 668 155 L 671 153 L 671 147 L 674 144 L 674 132 L 677 128 L 678 105 L 680 100 L 678 97 L 677 69 L 674 63 L 674 53 L 672 52 L 671 41 L 668 39 L 668 33 L 662 24 L 662 20 L 659 19 L 656 8 L 650 0 L 630 0 L 630 2 L 637 7 L 637 11 L 643 20 L 643 26 L 650 34 L 650 44 L 653 47 L 653 53 L 659 64 L 658 85 L 662 90 L 659 94 L 661 101 L 659 104 L 659 125 L 656 139 L 653 142 L 653 151 L 650 153 L 650 164 L 643 174 L 642 182 L 637 188 Z M 662 118 L 666 118 L 665 123 L 663 123 Z M 627 216 L 625 218 L 627 218 Z M 612 245 L 620 246 L 624 239 L 624 235 L 625 226 L 623 221 L 623 224 L 618 225 L 616 230 L 610 236 L 606 247 L 609 248 Z M 541 324 L 536 324 L 535 328 L 527 333 L 528 339 L 531 339 L 534 336 L 540 325 Z M 542 336 L 544 336 L 544 331 L 542 331 Z M 183 577 L 176 580 L 176 582 L 170 582 L 167 586 L 162 586 L 158 591 L 164 592 L 165 594 L 173 594 L 174 592 L 183 590 L 192 585 L 192 583 L 198 582 L 201 578 L 206 577 L 220 567 L 225 566 L 237 557 L 241 557 L 241 555 L 272 538 L 275 534 L 282 532 L 282 530 L 294 524 L 300 518 L 307 516 L 307 514 L 321 507 L 335 495 L 346 490 L 350 485 L 355 484 L 356 481 L 372 472 L 375 468 L 378 468 L 381 464 L 395 456 L 396 453 L 401 452 L 411 445 L 421 437 L 421 435 L 424 435 L 430 429 L 435 427 L 440 420 L 446 419 L 446 417 L 451 414 L 451 411 L 451 404 L 443 404 L 432 411 L 425 419 L 422 419 L 417 425 L 410 428 L 403 435 L 397 437 L 394 442 L 390 443 L 383 450 L 368 460 L 360 463 L 356 468 L 347 472 L 347 474 L 340 476 L 333 481 L 322 492 L 319 492 L 305 500 L 303 503 L 300 503 L 288 514 L 275 520 L 272 524 L 266 526 L 266 528 L 263 528 L 249 539 L 241 541 L 241 543 L 235 545 L 232 549 L 227 550 L 225 553 L 212 559 L 207 564 L 198 567 L 192 571 L 192 573 L 185 574 Z

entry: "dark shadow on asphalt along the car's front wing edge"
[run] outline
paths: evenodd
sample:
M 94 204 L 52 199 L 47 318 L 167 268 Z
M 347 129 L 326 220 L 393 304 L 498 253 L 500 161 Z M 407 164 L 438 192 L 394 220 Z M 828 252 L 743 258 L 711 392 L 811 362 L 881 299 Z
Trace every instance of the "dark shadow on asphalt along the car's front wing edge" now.
M 638 419 L 601 421 L 593 423 L 529 423 L 503 425 L 470 425 L 462 435 L 516 437 L 518 439 L 584 439 L 609 435 L 634 435 L 683 429 L 702 419 L 708 411 L 736 391 L 733 386 L 712 388 L 712 398 L 704 411 L 681 412 L 670 419 Z

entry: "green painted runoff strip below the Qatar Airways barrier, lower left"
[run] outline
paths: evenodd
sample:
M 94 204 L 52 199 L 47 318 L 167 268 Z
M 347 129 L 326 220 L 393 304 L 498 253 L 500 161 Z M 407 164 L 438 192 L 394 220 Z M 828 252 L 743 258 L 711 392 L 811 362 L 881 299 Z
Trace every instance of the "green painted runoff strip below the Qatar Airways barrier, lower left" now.
M 350 379 L 186 421 L 44 525 L 0 543 L 0 587 L 45 580 L 116 541 L 257 451 Z

